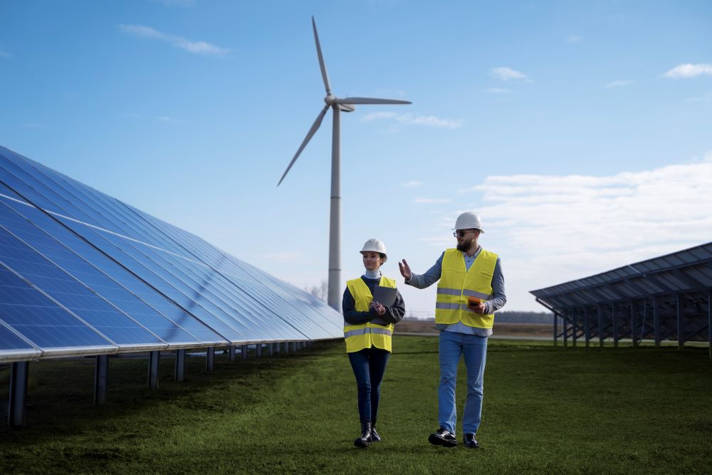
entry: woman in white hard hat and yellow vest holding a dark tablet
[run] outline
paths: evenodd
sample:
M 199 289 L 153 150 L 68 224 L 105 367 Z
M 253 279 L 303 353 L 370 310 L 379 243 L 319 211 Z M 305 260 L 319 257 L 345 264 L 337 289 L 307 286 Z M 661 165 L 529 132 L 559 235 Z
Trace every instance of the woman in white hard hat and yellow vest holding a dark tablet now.
M 376 432 L 381 381 L 391 354 L 393 325 L 402 320 L 405 307 L 397 290 L 394 301 L 385 302 L 389 305 L 373 300 L 377 286 L 396 287 L 396 281 L 382 276 L 379 271 L 387 260 L 386 246 L 378 239 L 369 239 L 363 245 L 361 254 L 366 272 L 346 283 L 341 308 L 346 352 L 358 385 L 361 437 L 354 441 L 354 445 L 368 447 L 371 442 L 381 442 Z

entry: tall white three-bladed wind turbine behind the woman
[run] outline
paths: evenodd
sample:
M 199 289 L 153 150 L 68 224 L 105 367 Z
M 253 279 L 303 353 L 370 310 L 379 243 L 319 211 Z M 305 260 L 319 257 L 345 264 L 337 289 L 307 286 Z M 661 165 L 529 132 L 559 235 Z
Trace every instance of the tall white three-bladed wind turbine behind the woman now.
M 319 56 L 319 67 L 321 68 L 321 78 L 324 80 L 324 87 L 326 88 L 326 97 L 324 102 L 326 105 L 321 110 L 313 125 L 307 132 L 307 136 L 304 138 L 302 145 L 299 146 L 297 152 L 287 169 L 282 174 L 279 179 L 279 186 L 287 176 L 294 162 L 297 161 L 299 154 L 307 146 L 311 137 L 318 130 L 321 125 L 321 121 L 326 115 L 327 110 L 332 108 L 334 111 L 334 124 L 331 137 L 331 209 L 330 209 L 330 224 L 329 224 L 329 292 L 328 292 L 328 303 L 329 306 L 335 308 L 335 310 L 341 309 L 341 133 L 340 133 L 340 113 L 343 112 L 353 112 L 356 108 L 356 104 L 410 104 L 407 100 L 394 100 L 394 99 L 375 99 L 375 98 L 337 98 L 331 93 L 331 85 L 329 84 L 329 76 L 326 73 L 326 66 L 324 65 L 324 58 L 321 54 L 321 46 L 319 43 L 319 34 L 316 31 L 316 21 L 312 16 L 312 27 L 314 29 L 314 41 L 316 43 L 316 53 Z

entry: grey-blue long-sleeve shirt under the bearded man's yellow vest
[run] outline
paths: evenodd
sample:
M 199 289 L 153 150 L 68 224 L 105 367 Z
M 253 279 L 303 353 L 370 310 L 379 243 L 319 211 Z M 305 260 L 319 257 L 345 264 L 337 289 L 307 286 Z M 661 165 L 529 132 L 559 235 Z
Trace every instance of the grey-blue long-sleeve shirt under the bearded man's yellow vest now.
M 482 246 L 480 246 L 477 252 L 471 257 L 465 253 L 462 253 L 465 258 L 465 266 L 468 271 L 470 270 L 470 267 L 474 263 L 475 259 L 477 259 L 477 256 L 479 256 L 480 251 L 482 251 Z M 429 268 L 423 274 L 412 274 L 410 280 L 405 281 L 405 283 L 415 288 L 426 288 L 439 281 L 440 276 L 442 275 L 444 256 L 445 252 L 443 251 L 443 254 L 440 254 L 440 257 L 431 268 Z M 499 259 L 499 257 L 497 257 L 497 263 L 495 264 L 494 271 L 492 273 L 492 298 L 488 301 L 485 301 L 484 304 L 487 307 L 487 313 L 493 313 L 496 310 L 502 308 L 505 303 L 507 303 L 507 296 L 504 291 L 504 274 L 502 273 L 501 260 Z M 491 328 L 469 327 L 462 322 L 453 323 L 451 325 L 438 324 L 435 325 L 435 327 L 439 330 L 456 331 L 460 333 L 473 333 L 474 335 L 479 336 L 489 336 L 492 334 Z

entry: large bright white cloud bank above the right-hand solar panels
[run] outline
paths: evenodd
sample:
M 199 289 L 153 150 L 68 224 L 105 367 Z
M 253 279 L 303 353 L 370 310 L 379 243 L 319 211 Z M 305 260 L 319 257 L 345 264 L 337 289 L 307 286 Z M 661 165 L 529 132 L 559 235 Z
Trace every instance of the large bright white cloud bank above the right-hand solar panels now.
M 644 258 L 642 249 L 712 236 L 712 154 L 608 177 L 493 176 L 473 189 L 487 203 L 482 216 L 496 220 L 511 244 L 561 265 L 590 256 L 604 270 L 622 264 L 613 257 L 629 254 L 633 261 Z

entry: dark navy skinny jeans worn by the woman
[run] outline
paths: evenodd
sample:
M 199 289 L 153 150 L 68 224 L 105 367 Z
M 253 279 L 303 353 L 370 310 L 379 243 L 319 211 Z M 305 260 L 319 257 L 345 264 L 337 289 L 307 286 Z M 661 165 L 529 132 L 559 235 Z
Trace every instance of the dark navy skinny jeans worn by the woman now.
M 376 422 L 378 402 L 381 399 L 381 381 L 391 355 L 380 348 L 348 353 L 358 386 L 358 414 L 361 422 Z

